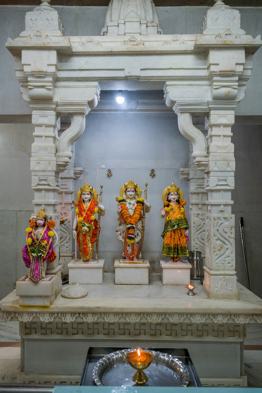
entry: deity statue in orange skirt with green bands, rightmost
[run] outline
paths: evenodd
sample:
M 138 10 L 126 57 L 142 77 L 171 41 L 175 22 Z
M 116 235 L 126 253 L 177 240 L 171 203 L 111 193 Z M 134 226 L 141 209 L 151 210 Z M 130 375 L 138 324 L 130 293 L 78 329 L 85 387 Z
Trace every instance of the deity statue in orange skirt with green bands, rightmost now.
M 165 188 L 162 194 L 164 206 L 161 208 L 161 217 L 165 217 L 165 227 L 161 236 L 164 239 L 162 255 L 170 257 L 169 262 L 178 262 L 180 257 L 189 255 L 187 240 L 189 225 L 183 206 L 183 193 L 174 183 Z

